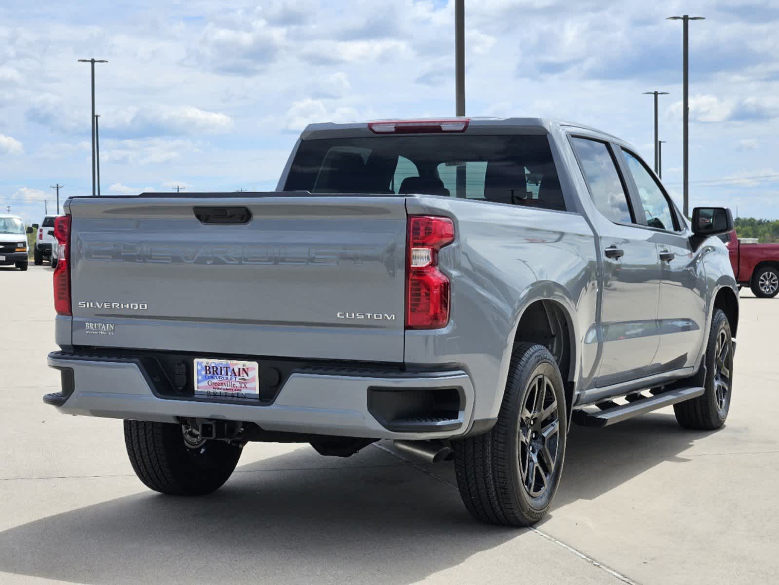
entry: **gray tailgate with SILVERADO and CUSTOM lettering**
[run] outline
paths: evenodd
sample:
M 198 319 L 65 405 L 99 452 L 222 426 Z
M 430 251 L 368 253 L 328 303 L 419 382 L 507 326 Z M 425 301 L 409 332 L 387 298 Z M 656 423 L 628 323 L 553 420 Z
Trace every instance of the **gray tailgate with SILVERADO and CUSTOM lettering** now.
M 195 207 L 251 219 L 203 223 Z M 403 361 L 404 197 L 83 197 L 69 211 L 76 346 Z

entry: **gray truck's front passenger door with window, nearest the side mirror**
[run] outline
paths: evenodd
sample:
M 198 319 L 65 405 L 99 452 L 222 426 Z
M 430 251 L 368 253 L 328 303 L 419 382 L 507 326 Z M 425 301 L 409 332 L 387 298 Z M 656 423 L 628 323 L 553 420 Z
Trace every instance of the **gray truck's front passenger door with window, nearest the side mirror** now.
M 659 373 L 693 366 L 706 334 L 707 288 L 700 256 L 693 252 L 691 232 L 646 163 L 625 149 L 620 154 L 636 206 L 643 208 L 661 262 L 657 304 L 660 345 L 650 367 Z

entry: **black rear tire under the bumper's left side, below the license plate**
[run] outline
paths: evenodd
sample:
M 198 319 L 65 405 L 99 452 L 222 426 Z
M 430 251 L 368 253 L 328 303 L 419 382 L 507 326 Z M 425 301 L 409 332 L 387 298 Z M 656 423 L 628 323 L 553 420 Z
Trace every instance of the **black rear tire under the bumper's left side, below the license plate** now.
M 125 420 L 125 446 L 139 480 L 170 495 L 206 495 L 231 476 L 241 448 L 207 440 L 188 446 L 182 425 Z

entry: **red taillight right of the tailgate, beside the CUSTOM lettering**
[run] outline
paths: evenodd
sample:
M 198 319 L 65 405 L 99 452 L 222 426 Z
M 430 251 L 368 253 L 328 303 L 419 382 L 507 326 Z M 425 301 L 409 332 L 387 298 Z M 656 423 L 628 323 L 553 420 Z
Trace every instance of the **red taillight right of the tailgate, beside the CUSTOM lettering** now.
M 438 269 L 439 250 L 454 241 L 449 218 L 410 215 L 406 261 L 406 328 L 438 329 L 449 323 L 449 278 Z

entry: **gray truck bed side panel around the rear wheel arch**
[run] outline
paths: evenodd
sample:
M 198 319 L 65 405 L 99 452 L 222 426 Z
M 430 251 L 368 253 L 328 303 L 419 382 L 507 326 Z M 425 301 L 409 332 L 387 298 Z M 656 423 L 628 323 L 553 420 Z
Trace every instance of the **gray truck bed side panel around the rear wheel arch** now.
M 549 300 L 572 320 L 573 379 L 591 379 L 597 339 L 584 334 L 595 324 L 597 262 L 581 215 L 433 196 L 409 197 L 407 210 L 452 218 L 457 236 L 439 254 L 452 281 L 449 324 L 407 332 L 407 363 L 462 364 L 474 381 L 474 419 L 495 417 L 520 316 L 530 303 Z

